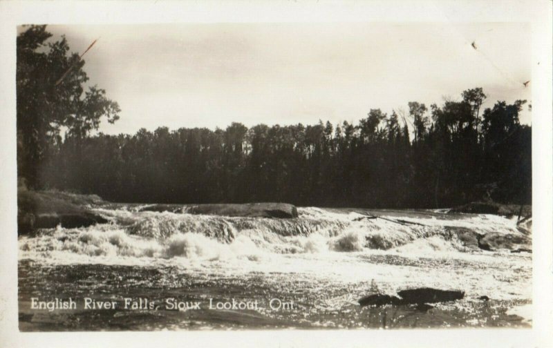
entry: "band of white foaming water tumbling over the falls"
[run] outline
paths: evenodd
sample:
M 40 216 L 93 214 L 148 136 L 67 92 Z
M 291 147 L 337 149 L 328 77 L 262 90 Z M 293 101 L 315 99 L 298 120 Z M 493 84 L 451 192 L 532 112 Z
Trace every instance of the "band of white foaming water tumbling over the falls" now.
M 476 253 L 452 231 L 499 233 L 529 240 L 516 221 L 495 215 L 406 213 L 366 218 L 355 212 L 299 209 L 297 219 L 229 218 L 182 213 L 97 209 L 111 221 L 83 229 L 43 230 L 19 238 L 21 259 L 82 255 L 86 262 L 118 258 L 257 260 L 261 255 L 350 253 L 387 250 L 431 257 L 433 253 Z

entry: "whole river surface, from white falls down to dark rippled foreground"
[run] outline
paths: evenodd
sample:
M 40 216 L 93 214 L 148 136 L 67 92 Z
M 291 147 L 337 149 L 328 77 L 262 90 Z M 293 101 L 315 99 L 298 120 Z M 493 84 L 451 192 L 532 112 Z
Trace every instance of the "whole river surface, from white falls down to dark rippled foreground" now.
M 532 255 L 470 247 L 452 233 L 530 238 L 531 222 L 442 211 L 367 219 L 308 207 L 296 219 L 270 219 L 142 208 L 96 208 L 109 224 L 19 237 L 21 331 L 531 325 L 520 313 L 531 308 Z M 357 303 L 418 287 L 465 297 L 432 307 Z M 52 304 L 70 298 L 75 308 Z

